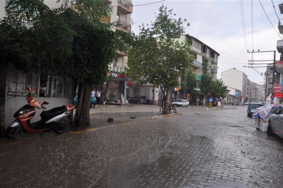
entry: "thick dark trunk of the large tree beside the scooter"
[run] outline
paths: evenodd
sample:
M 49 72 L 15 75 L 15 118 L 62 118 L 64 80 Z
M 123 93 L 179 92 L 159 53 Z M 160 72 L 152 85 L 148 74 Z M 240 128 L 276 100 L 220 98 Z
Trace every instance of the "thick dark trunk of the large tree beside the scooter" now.
M 92 84 L 84 82 L 79 84 L 78 90 L 78 106 L 76 106 L 73 125 L 77 127 L 90 126 L 90 95 L 92 91 Z

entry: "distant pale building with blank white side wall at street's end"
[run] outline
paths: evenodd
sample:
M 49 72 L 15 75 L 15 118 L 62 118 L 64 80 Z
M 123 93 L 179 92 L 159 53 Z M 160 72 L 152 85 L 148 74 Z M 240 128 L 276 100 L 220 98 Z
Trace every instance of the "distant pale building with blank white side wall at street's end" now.
M 225 86 L 241 91 L 241 96 L 239 96 L 241 100 L 239 100 L 239 102 L 250 101 L 251 82 L 244 72 L 236 68 L 231 68 L 221 73 L 221 79 Z

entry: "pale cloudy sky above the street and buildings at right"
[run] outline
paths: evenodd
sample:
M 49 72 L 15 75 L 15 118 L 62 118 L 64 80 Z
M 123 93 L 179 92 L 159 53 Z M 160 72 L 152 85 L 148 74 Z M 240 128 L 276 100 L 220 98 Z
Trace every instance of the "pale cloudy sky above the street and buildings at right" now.
M 266 68 L 255 68 L 255 71 L 243 66 L 250 66 L 248 63 L 251 63 L 248 61 L 251 60 L 251 53 L 247 50 L 276 50 L 277 40 L 282 38 L 278 31 L 278 18 L 282 18 L 278 4 L 281 3 L 283 0 L 133 0 L 132 31 L 138 34 L 139 25 L 154 21 L 155 13 L 159 13 L 159 7 L 163 4 L 173 9 L 176 18 L 185 18 L 190 23 L 188 27 L 184 25 L 185 34 L 197 38 L 220 54 L 217 78 L 221 78 L 223 71 L 236 68 L 247 74 L 251 82 L 261 84 L 264 78 L 260 73 L 265 72 Z M 253 53 L 253 60 L 273 60 L 273 56 L 274 52 Z M 276 50 L 276 60 L 279 58 Z

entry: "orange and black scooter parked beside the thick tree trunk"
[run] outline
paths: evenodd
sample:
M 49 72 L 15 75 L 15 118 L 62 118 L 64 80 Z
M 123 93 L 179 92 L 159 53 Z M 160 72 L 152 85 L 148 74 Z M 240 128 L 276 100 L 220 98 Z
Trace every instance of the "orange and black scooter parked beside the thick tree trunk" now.
M 25 133 L 42 133 L 42 132 L 57 132 L 62 133 L 67 128 L 66 118 L 70 111 L 74 109 L 73 104 L 63 105 L 48 111 L 44 111 L 43 105 L 48 102 L 43 101 L 40 104 L 39 101 L 31 97 L 31 89 L 28 88 L 29 94 L 26 96 L 28 104 L 22 106 L 15 114 L 16 118 L 6 129 L 5 136 L 11 138 L 17 135 L 22 127 Z M 35 108 L 42 109 L 40 114 L 41 120 L 31 123 L 31 119 L 35 116 Z

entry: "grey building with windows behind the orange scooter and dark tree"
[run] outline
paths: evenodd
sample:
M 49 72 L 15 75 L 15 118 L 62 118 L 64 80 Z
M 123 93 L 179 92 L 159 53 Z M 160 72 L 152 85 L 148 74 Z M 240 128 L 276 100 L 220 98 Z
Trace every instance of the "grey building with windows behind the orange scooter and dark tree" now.
M 1 18 L 5 16 L 5 7 L 9 1 L 0 1 Z M 45 1 L 50 8 L 58 8 L 62 3 Z M 0 132 L 4 132 L 14 120 L 13 114 L 24 104 L 27 88 L 31 88 L 32 96 L 39 102 L 48 101 L 46 110 L 64 104 L 72 104 L 74 97 L 74 80 L 56 72 L 24 73 L 16 69 L 13 63 L 0 65 Z M 37 112 L 32 122 L 40 119 Z

